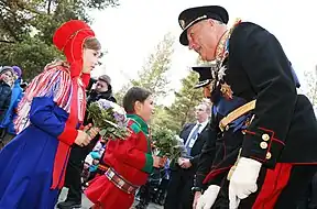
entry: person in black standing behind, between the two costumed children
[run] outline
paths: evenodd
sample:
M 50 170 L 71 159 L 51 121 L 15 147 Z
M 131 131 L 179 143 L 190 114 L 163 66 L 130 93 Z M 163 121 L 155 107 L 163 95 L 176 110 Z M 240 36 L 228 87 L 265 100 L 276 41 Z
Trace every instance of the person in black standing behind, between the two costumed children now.
M 107 99 L 116 102 L 112 96 L 111 80 L 107 75 L 102 75 L 96 82 L 96 88 L 92 89 L 87 97 L 87 106 L 99 99 Z M 87 125 L 90 121 L 87 120 L 88 113 L 84 124 Z M 66 168 L 65 187 L 68 188 L 67 198 L 64 202 L 59 202 L 57 208 L 72 209 L 81 207 L 81 170 L 84 168 L 84 161 L 88 153 L 92 151 L 95 144 L 98 142 L 100 135 L 98 134 L 91 142 L 85 146 L 74 145 L 70 151 L 69 161 Z

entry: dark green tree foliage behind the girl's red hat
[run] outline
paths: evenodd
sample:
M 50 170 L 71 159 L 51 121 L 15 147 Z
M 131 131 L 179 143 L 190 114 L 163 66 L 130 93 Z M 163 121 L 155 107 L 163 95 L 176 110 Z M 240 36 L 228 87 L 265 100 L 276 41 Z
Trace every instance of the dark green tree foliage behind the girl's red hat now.
M 52 45 L 55 30 L 68 20 L 90 22 L 88 9 L 118 6 L 118 0 L 0 0 L 1 65 L 20 65 L 30 80 L 61 57 Z

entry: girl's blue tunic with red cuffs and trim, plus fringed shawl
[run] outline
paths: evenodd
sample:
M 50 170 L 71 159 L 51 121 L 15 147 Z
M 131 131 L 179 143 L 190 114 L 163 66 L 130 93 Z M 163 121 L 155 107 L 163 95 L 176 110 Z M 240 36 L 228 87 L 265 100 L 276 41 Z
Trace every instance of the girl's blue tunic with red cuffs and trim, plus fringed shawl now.
M 24 117 L 20 117 L 22 122 L 17 124 L 24 128 L 0 151 L 0 209 L 54 208 L 70 145 L 77 136 L 75 125 L 69 123 L 69 111 L 61 108 L 61 103 L 70 103 L 69 78 L 67 70 L 55 66 L 39 75 L 26 90 L 21 103 L 36 92 L 30 111 L 23 111 L 29 106 L 21 106 L 20 110 L 30 123 L 25 125 Z

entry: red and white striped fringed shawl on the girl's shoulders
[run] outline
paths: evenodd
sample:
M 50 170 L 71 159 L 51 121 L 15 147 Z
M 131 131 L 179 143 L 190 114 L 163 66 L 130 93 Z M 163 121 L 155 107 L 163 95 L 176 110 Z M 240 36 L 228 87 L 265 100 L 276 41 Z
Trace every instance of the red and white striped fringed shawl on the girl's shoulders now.
M 85 89 L 80 78 L 78 79 L 78 120 L 85 116 Z M 80 88 L 81 87 L 81 88 Z M 18 117 L 14 121 L 17 133 L 30 125 L 30 110 L 35 97 L 53 97 L 54 102 L 70 112 L 72 78 L 68 67 L 63 62 L 48 64 L 42 74 L 36 76 L 28 87 L 24 97 L 18 106 Z

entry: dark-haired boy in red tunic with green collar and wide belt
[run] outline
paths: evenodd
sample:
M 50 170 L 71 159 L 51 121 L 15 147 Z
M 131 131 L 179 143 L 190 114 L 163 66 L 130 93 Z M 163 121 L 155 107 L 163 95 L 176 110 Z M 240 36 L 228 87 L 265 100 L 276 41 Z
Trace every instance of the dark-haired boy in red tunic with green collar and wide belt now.
M 129 209 L 135 190 L 144 185 L 153 167 L 160 167 L 160 157 L 152 156 L 146 122 L 153 111 L 151 92 L 132 87 L 123 98 L 131 134 L 124 140 L 109 141 L 103 162 L 109 166 L 96 177 L 85 194 L 95 204 L 94 209 Z

